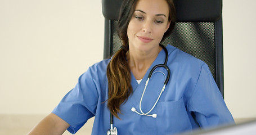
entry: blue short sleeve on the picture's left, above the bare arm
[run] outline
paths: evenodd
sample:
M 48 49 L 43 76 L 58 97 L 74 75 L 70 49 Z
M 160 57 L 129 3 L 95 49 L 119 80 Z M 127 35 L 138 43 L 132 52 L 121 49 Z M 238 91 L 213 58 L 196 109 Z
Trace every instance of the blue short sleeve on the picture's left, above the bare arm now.
M 91 71 L 80 76 L 76 86 L 62 98 L 52 111 L 70 124 L 67 129 L 76 133 L 92 116 L 95 116 L 98 101 L 97 84 L 93 82 Z

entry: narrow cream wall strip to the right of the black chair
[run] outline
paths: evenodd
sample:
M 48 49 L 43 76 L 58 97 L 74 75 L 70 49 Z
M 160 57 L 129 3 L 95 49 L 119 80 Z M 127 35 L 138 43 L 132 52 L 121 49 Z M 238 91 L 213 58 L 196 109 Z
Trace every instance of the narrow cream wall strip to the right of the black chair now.
M 256 118 L 255 6 L 223 0 L 224 95 L 235 118 Z

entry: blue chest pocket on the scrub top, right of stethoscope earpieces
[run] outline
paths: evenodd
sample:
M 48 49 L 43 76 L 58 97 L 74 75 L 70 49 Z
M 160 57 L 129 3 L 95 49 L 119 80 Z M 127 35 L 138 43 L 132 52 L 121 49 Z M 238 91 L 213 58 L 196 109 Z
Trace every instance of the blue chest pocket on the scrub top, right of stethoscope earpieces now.
M 158 102 L 156 125 L 158 134 L 172 134 L 191 130 L 183 98 L 178 101 Z

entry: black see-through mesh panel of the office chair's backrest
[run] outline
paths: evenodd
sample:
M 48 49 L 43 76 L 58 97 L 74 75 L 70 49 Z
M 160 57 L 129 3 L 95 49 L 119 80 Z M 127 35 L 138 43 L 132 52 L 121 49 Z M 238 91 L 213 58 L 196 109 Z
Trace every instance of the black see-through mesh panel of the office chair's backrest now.
M 117 21 L 113 21 L 110 55 L 122 46 L 116 31 Z M 214 22 L 176 22 L 172 34 L 161 44 L 170 44 L 190 55 L 204 61 L 215 79 L 215 29 Z

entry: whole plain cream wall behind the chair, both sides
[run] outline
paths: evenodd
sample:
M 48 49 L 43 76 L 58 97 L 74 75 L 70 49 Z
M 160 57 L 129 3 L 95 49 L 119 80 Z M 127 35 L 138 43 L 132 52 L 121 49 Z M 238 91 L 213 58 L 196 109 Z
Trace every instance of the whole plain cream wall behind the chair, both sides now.
M 255 1 L 223 1 L 224 94 L 256 118 Z M 102 60 L 101 1 L 0 0 L 0 114 L 48 114 Z

